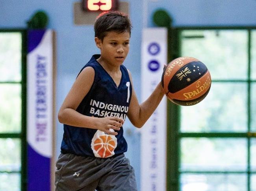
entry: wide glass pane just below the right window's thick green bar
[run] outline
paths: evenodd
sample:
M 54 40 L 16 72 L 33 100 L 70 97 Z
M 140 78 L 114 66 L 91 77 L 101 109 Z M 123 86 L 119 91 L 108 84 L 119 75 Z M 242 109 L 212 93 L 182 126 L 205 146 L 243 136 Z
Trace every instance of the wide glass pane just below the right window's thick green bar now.
M 245 171 L 246 138 L 182 138 L 181 171 Z

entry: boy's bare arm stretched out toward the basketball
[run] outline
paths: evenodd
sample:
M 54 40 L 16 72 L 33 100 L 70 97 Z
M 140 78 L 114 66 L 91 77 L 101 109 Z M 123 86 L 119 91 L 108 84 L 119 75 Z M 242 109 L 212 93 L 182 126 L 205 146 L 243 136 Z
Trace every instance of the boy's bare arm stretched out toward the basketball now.
M 132 75 L 130 72 L 129 76 L 132 84 Z M 135 91 L 132 91 L 132 98 L 127 114 L 132 124 L 135 127 L 141 128 L 145 122 L 147 122 L 152 113 L 156 110 L 164 95 L 165 94 L 163 93 L 161 83 L 159 83 L 152 94 L 147 98 L 147 100 L 139 105 Z

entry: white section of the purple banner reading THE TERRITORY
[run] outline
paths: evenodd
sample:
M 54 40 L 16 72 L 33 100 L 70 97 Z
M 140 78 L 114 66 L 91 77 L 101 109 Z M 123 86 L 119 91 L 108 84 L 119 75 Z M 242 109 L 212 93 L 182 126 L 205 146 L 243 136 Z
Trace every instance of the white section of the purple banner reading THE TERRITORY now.
M 53 31 L 32 31 L 29 34 L 31 50 L 27 56 L 27 140 L 35 152 L 51 158 Z

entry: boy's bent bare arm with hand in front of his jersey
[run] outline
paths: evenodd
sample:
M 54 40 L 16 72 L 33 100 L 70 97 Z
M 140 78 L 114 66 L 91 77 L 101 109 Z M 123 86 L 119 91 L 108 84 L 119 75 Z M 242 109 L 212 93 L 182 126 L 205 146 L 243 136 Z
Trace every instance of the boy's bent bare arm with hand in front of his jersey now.
M 85 69 L 83 69 L 83 71 L 78 75 L 61 108 L 59 109 L 59 122 L 75 127 L 99 129 L 100 131 L 104 131 L 110 135 L 117 135 L 116 132 L 112 132 L 110 129 L 120 130 L 120 127 L 122 126 L 121 123 L 124 122 L 121 118 L 114 116 L 97 118 L 85 116 L 76 111 L 85 95 L 87 95 L 91 89 L 94 76 L 95 71 L 92 67 L 85 67 Z

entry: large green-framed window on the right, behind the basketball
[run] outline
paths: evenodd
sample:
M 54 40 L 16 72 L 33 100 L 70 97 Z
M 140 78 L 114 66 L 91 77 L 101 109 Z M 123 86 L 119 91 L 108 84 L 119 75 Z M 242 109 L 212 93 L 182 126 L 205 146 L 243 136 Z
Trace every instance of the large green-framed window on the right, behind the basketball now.
M 169 106 L 175 109 L 169 116 L 179 117 L 169 124 L 169 149 L 178 155 L 169 157 L 169 170 L 176 172 L 169 187 L 256 191 L 256 30 L 176 28 L 175 38 L 176 57 L 206 64 L 212 84 L 199 104 Z

